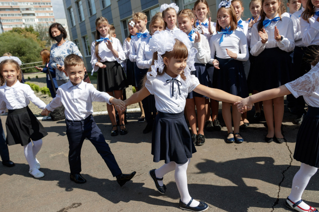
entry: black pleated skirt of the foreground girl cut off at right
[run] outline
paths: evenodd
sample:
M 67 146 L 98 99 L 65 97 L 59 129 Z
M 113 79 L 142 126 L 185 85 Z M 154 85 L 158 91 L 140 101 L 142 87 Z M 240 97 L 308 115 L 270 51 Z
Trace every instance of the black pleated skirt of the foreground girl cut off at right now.
M 319 108 L 308 105 L 307 115 L 300 125 L 293 158 L 319 167 Z

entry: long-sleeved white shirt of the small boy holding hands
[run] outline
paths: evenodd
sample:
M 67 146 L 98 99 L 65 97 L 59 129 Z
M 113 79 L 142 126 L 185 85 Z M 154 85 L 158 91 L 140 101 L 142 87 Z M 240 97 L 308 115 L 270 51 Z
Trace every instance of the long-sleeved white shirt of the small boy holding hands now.
M 57 89 L 55 98 L 46 108 L 48 111 L 53 111 L 63 105 L 65 107 L 65 117 L 68 120 L 79 121 L 93 114 L 93 101 L 111 104 L 109 102 L 111 97 L 105 92 L 99 92 L 90 83 L 81 81 L 74 86 L 69 81 Z

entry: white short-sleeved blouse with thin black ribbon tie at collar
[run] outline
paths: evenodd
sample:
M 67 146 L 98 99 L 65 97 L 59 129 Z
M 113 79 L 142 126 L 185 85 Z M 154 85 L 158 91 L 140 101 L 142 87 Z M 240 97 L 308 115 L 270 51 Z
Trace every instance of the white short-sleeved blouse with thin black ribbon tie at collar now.
M 181 75 L 176 77 L 180 84 L 181 95 L 179 94 L 177 82 L 166 83 L 166 80 L 172 79 L 167 73 L 162 75 L 152 76 L 152 72 L 147 72 L 147 79 L 145 87 L 154 94 L 156 109 L 163 113 L 180 113 L 184 111 L 186 98 L 189 92 L 192 92 L 200 83 L 198 78 L 194 75 L 186 78 L 186 81 L 181 78 Z M 174 91 L 172 96 L 172 86 L 174 83 Z

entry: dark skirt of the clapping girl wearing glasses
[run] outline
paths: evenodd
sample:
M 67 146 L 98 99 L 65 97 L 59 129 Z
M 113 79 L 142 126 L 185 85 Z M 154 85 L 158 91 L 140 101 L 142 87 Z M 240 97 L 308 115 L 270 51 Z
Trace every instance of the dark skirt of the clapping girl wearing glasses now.
M 248 86 L 242 62 L 234 59 L 216 58 L 219 68 L 213 73 L 213 88 L 242 98 L 248 97 Z

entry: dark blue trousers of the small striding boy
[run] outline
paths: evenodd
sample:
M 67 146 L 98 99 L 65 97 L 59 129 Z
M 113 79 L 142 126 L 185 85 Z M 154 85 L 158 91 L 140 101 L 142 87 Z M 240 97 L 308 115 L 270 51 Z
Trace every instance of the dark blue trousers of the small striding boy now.
M 65 123 L 66 135 L 69 140 L 69 165 L 71 174 L 79 174 L 81 172 L 81 148 L 85 138 L 90 140 L 95 146 L 113 177 L 122 174 L 114 155 L 92 115 L 80 121 L 65 119 Z

